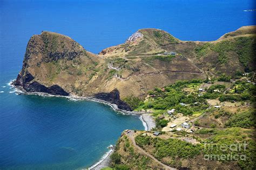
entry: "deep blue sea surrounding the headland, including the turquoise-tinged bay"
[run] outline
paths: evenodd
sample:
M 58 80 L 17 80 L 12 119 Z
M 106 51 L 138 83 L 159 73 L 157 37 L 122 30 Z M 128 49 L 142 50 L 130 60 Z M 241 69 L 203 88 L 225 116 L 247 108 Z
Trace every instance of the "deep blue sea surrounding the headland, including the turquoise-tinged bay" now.
M 123 43 L 138 29 L 158 28 L 182 40 L 215 40 L 255 25 L 253 0 L 0 0 L 0 169 L 90 167 L 134 115 L 93 101 L 16 95 L 8 83 L 21 70 L 26 43 L 42 30 L 62 33 L 88 51 Z

